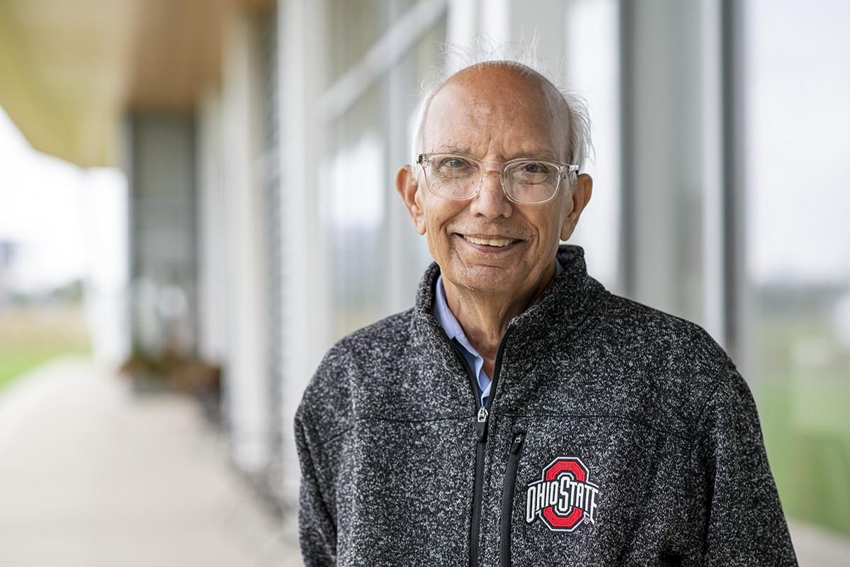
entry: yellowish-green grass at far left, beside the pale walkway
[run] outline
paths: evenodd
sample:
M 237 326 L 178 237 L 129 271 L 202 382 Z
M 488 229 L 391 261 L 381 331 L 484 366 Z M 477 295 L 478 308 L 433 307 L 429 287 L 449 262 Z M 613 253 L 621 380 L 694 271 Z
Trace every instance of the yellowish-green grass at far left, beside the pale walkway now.
M 36 366 L 63 354 L 88 354 L 79 306 L 0 311 L 0 392 Z

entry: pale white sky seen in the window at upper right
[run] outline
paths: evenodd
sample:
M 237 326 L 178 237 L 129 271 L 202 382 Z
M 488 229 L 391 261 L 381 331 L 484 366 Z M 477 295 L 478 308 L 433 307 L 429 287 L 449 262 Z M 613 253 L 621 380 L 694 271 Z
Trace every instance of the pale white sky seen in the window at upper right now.
M 746 5 L 751 273 L 757 281 L 846 284 L 850 2 L 751 0 Z

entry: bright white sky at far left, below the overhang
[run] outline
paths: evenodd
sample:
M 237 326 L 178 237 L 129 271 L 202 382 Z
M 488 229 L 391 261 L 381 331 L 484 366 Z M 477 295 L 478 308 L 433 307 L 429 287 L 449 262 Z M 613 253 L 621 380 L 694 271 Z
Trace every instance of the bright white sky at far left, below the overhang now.
M 33 150 L 0 108 L 0 240 L 19 247 L 0 284 L 45 292 L 82 277 L 101 286 L 120 279 L 125 188 L 116 169 L 82 169 Z

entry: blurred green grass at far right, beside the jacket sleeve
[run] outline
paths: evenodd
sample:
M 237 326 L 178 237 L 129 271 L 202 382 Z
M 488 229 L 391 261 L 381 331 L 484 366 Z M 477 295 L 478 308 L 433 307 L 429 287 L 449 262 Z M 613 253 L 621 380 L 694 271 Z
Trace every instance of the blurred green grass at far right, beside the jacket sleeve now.
M 762 323 L 757 403 L 785 513 L 850 536 L 850 352 L 826 322 Z

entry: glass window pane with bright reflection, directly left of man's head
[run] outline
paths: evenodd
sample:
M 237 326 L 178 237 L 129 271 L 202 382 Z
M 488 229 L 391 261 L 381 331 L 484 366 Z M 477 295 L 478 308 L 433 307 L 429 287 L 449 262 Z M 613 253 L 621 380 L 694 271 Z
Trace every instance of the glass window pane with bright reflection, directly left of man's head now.
M 417 95 L 422 81 L 439 65 L 439 42 L 444 39 L 442 18 L 328 129 L 319 197 L 334 337 L 409 308 L 431 262 L 425 238 L 411 226 L 394 179 L 409 161 L 408 132 Z M 364 37 L 351 48 L 361 40 Z M 346 37 L 335 41 L 344 51 Z

